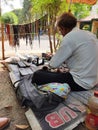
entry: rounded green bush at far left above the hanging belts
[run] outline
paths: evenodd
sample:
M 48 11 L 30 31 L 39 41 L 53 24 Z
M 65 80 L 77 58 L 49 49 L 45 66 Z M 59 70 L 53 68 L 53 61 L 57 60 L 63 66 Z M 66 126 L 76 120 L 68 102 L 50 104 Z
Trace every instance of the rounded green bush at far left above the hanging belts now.
M 5 13 L 1 19 L 5 24 L 18 24 L 18 17 L 13 12 Z

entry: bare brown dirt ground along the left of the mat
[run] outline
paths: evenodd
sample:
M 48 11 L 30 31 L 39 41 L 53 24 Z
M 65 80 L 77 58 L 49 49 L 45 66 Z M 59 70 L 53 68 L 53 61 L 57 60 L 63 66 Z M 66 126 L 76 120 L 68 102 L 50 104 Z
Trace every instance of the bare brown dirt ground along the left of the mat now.
M 10 125 L 5 130 L 18 130 L 15 125 L 29 125 L 25 111 L 16 98 L 8 70 L 0 63 L 0 117 L 11 119 Z M 28 127 L 26 130 L 31 128 Z

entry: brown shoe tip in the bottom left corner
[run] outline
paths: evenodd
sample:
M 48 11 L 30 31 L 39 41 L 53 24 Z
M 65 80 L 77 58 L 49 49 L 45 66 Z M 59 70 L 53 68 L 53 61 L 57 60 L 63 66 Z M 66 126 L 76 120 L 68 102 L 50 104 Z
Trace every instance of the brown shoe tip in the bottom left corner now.
M 0 118 L 0 130 L 3 130 L 5 127 L 7 127 L 10 123 L 10 119 L 7 117 L 1 117 Z

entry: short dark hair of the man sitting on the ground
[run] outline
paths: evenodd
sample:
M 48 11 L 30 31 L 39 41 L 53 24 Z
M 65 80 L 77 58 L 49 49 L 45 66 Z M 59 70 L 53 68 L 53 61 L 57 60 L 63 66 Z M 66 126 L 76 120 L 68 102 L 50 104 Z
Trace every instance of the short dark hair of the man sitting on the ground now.
M 72 29 L 76 26 L 77 19 L 75 16 L 68 12 L 63 13 L 58 19 L 57 19 L 57 26 L 60 28 L 69 28 Z

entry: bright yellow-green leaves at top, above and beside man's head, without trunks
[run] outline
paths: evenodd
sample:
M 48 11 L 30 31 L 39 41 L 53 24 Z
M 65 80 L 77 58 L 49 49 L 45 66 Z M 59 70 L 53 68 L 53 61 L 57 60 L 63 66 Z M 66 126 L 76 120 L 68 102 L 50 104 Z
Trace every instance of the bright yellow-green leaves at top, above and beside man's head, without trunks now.
M 63 12 L 68 12 L 70 4 L 66 0 L 31 0 L 33 13 L 43 14 L 50 13 L 52 15 L 60 15 Z M 91 6 L 87 4 L 71 4 L 71 12 L 77 19 L 84 18 L 89 15 Z

